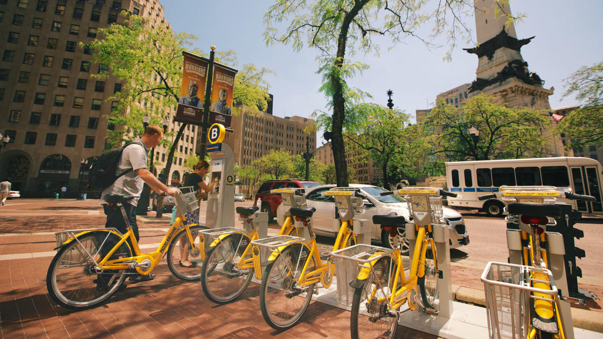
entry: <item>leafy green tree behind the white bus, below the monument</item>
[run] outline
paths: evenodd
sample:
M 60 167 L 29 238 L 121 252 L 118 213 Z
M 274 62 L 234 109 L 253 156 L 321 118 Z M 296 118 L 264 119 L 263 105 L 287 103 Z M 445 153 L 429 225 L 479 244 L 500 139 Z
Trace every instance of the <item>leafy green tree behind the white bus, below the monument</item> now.
M 493 97 L 477 95 L 456 109 L 443 100 L 426 114 L 423 132 L 432 134 L 435 154 L 449 159 L 519 159 L 545 154 L 543 131 L 548 113 L 525 107 L 506 107 Z M 470 128 L 479 130 L 473 138 Z

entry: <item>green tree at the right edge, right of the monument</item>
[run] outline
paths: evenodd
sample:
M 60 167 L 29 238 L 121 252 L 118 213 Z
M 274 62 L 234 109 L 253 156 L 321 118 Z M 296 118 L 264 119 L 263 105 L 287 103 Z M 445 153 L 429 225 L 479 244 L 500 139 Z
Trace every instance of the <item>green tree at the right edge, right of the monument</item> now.
M 573 110 L 559 122 L 558 131 L 572 140 L 566 147 L 587 146 L 603 141 L 603 62 L 583 66 L 565 79 L 566 92 L 581 101 L 582 107 Z

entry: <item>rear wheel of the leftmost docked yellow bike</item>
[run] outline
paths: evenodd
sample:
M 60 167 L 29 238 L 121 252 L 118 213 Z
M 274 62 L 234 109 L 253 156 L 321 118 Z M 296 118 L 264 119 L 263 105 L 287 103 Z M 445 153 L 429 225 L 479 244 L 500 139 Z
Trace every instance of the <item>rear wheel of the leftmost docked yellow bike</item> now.
M 236 264 L 250 243 L 247 235 L 232 233 L 207 252 L 201 270 L 201 288 L 207 299 L 224 304 L 235 300 L 247 289 L 253 278 L 253 268 L 239 270 Z

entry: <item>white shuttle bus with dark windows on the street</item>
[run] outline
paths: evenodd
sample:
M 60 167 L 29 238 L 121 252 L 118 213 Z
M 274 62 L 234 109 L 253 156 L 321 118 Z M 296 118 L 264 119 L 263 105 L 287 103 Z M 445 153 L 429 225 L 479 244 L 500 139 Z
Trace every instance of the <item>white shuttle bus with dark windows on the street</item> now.
M 587 157 L 446 162 L 446 179 L 448 191 L 459 193 L 456 198 L 448 198 L 448 205 L 453 208 L 477 208 L 488 215 L 499 216 L 504 207 L 502 201 L 479 201 L 478 197 L 496 192 L 503 185 L 545 185 L 592 195 L 597 201 L 562 201 L 584 213 L 603 214 L 603 166 L 597 160 Z

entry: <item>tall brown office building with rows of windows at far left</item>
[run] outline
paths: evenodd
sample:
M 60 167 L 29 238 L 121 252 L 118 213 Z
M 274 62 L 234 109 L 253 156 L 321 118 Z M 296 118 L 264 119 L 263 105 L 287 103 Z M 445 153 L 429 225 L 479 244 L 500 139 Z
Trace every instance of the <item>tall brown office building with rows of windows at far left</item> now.
M 116 103 L 106 100 L 124 81 L 91 78 L 107 68 L 91 63 L 93 51 L 78 43 L 91 42 L 100 28 L 124 24 L 122 10 L 169 27 L 157 0 L 0 0 L 0 133 L 10 137 L 0 153 L 0 178 L 10 177 L 13 189 L 30 196 L 63 185 L 68 193 L 84 189 L 107 128 L 115 128 L 107 115 Z M 170 130 L 177 128 L 170 123 Z M 178 145 L 169 174 L 175 182 L 183 158 L 194 152 L 194 132 L 189 128 Z M 165 153 L 156 148 L 155 160 L 165 164 Z

